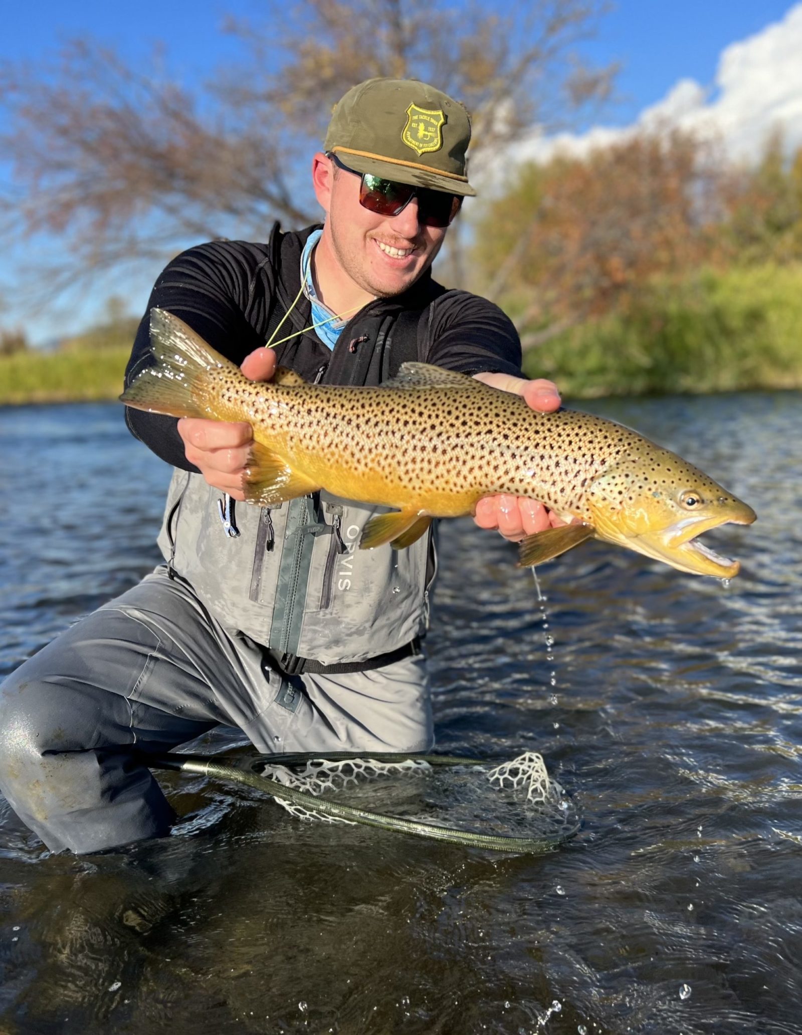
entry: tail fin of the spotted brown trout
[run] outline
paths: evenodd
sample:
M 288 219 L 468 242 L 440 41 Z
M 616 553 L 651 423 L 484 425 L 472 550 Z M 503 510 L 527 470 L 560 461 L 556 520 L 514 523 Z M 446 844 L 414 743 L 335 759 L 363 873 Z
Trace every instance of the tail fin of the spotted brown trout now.
M 230 368 L 242 377 L 239 367 L 166 309 L 150 310 L 150 351 L 155 363 L 138 374 L 120 395 L 121 402 L 136 410 L 173 417 L 209 417 L 212 414 L 203 398 L 205 375 Z

